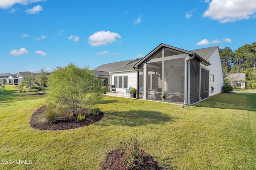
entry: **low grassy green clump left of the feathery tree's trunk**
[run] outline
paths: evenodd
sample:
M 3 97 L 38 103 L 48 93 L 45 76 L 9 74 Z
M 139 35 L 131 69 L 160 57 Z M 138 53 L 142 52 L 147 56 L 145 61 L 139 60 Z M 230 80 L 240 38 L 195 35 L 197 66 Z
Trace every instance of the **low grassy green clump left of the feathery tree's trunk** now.
M 50 124 L 56 123 L 58 120 L 60 120 L 60 116 L 62 114 L 62 107 L 48 105 L 45 107 L 44 112 L 37 116 L 37 121 Z

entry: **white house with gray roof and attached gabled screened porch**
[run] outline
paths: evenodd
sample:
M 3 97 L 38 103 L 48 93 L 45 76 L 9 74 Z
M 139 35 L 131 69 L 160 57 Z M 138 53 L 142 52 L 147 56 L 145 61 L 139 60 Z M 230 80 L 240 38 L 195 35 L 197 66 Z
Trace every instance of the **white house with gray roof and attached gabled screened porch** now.
M 140 61 L 103 64 L 110 84 L 125 92 L 133 86 L 144 100 L 196 104 L 221 93 L 223 71 L 218 46 L 187 51 L 160 44 Z

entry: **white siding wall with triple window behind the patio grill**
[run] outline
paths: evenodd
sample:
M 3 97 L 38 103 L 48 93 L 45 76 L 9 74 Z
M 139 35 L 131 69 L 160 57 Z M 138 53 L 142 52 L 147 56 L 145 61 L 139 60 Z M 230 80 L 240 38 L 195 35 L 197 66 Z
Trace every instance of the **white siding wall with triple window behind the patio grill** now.
M 136 73 L 136 71 L 110 73 L 110 75 L 111 75 L 110 85 L 114 85 L 114 76 L 128 76 L 127 88 L 117 88 L 116 87 L 117 92 L 126 92 L 126 89 L 128 89 L 130 86 L 137 89 L 137 73 Z

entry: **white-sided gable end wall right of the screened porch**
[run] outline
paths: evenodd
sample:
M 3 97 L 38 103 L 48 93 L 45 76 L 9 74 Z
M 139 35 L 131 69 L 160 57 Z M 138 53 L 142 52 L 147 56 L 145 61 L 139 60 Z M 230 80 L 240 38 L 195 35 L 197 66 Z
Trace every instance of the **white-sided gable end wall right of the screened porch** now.
M 206 66 L 209 71 L 209 97 L 215 94 L 219 94 L 222 92 L 223 86 L 223 71 L 222 65 L 220 61 L 219 49 L 217 48 L 210 57 L 208 57 L 207 61 L 211 63 L 211 65 Z M 211 81 L 211 75 L 214 76 L 214 81 Z M 212 91 L 212 87 L 214 91 Z

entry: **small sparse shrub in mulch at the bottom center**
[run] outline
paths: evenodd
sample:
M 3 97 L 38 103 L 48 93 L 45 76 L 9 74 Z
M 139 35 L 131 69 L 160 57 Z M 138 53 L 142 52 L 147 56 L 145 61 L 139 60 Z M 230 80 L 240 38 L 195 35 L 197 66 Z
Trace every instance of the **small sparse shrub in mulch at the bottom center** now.
M 128 141 L 121 142 L 120 144 L 120 152 L 125 155 L 125 158 L 123 158 L 125 166 L 136 166 L 142 162 L 138 139 L 130 139 Z

